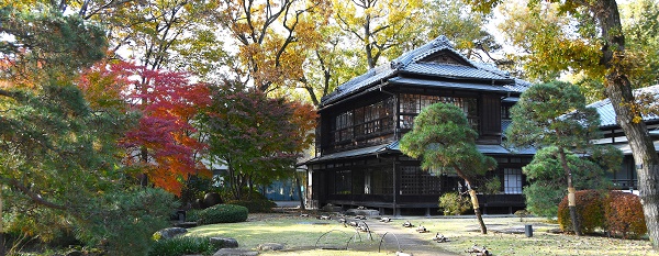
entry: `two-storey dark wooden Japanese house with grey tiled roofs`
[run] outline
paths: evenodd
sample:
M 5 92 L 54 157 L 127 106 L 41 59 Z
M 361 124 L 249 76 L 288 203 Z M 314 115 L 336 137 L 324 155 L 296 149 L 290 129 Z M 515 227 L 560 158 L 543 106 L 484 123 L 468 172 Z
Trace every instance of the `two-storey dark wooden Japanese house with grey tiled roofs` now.
M 322 99 L 316 156 L 309 171 L 308 201 L 344 210 L 366 207 L 381 214 L 439 214 L 438 198 L 461 189 L 459 177 L 424 171 L 417 159 L 403 155 L 399 140 L 416 114 L 434 102 L 460 107 L 479 133 L 478 148 L 494 157 L 502 189 L 479 194 L 488 213 L 524 209 L 522 167 L 535 152 L 502 146 L 511 123 L 510 108 L 530 86 L 495 67 L 456 52 L 440 36 L 414 51 L 355 77 Z

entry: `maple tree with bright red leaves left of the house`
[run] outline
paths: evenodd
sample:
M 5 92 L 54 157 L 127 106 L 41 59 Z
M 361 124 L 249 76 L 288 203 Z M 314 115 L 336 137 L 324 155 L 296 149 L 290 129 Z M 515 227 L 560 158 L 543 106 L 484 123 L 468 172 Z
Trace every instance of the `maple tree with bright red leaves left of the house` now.
M 141 182 L 180 194 L 191 175 L 210 176 L 200 163 L 206 147 L 191 121 L 210 103 L 209 88 L 190 82 L 188 74 L 150 70 L 120 62 L 99 64 L 80 79 L 86 97 L 98 107 L 127 108 L 142 114 L 120 144 L 127 149 L 124 164 L 136 167 Z

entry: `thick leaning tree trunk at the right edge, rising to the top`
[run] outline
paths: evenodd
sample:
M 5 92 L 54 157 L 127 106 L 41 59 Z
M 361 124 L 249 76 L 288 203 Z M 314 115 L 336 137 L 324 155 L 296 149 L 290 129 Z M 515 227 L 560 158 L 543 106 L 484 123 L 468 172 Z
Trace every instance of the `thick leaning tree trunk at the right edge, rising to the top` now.
M 605 89 L 625 132 L 638 176 L 638 190 L 652 247 L 659 248 L 659 156 L 644 122 L 634 122 L 639 113 L 632 110 L 632 85 L 626 76 L 623 58 L 625 36 L 615 0 L 599 0 L 589 5 L 601 26 L 602 65 L 606 67 Z

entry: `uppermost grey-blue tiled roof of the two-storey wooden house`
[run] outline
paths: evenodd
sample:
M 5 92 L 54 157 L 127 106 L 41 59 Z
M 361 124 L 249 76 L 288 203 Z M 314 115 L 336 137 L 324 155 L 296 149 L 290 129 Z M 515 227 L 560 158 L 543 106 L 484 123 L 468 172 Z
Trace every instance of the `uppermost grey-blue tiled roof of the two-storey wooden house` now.
M 439 52 L 448 52 L 459 58 L 458 63 L 466 65 L 421 62 Z M 323 97 L 321 104 L 327 105 L 357 92 L 376 88 L 377 85 L 384 84 L 399 74 L 423 75 L 444 79 L 483 80 L 485 81 L 483 84 L 490 86 L 493 86 L 493 81 L 498 81 L 500 85 L 506 85 L 496 87 L 502 87 L 502 90 L 510 92 L 522 92 L 530 86 L 526 81 L 510 77 L 509 73 L 500 70 L 492 65 L 469 60 L 454 49 L 454 46 L 446 36 L 439 36 L 416 49 L 404 53 L 388 65 L 376 67 L 340 85 L 335 91 Z

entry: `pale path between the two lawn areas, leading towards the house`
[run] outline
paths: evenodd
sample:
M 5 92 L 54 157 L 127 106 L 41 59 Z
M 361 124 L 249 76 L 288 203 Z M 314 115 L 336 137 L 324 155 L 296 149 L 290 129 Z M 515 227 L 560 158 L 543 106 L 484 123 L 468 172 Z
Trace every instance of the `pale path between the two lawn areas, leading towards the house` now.
M 450 252 L 443 251 L 439 246 L 434 245 L 434 241 L 428 238 L 428 241 L 424 241 L 417 237 L 413 230 L 415 227 L 410 227 L 412 230 L 404 230 L 404 227 L 399 227 L 396 225 L 402 225 L 403 221 L 398 220 L 393 223 L 383 223 L 380 222 L 376 218 L 371 218 L 365 221 L 371 232 L 378 234 L 379 236 L 384 235 L 384 241 L 387 245 L 382 245 L 383 248 L 388 251 L 398 251 L 395 247 L 398 245 L 395 243 L 398 238 L 398 244 L 400 244 L 400 248 L 405 254 L 411 254 L 414 256 L 456 256 L 459 254 L 454 254 Z M 432 237 L 432 235 L 428 235 Z

